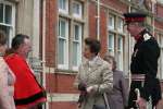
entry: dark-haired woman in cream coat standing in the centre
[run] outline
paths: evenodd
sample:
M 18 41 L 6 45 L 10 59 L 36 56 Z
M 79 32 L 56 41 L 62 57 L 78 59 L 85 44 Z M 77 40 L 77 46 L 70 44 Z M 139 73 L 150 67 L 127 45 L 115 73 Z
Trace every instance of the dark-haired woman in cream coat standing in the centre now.
M 79 66 L 76 75 L 75 86 L 80 90 L 79 108 L 95 109 L 96 107 L 105 108 L 103 94 L 112 90 L 113 72 L 109 63 L 102 60 L 98 53 L 100 51 L 100 41 L 86 38 L 84 57 L 85 62 Z

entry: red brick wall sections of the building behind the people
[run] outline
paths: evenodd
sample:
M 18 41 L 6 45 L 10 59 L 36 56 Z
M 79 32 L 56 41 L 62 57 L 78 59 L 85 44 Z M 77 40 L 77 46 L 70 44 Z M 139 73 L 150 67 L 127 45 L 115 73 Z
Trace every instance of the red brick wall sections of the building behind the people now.
M 47 66 L 55 68 L 57 58 L 57 25 L 58 25 L 58 0 L 47 0 L 46 4 L 46 61 Z M 118 0 L 101 0 L 104 5 L 111 7 L 120 13 L 127 12 L 128 7 Z M 88 4 L 88 35 L 89 37 L 97 37 L 97 9 L 92 1 Z M 158 12 L 162 15 L 163 8 L 159 8 Z M 163 16 L 163 15 L 162 15 Z M 108 11 L 101 8 L 100 11 L 100 40 L 102 44 L 101 56 L 106 51 L 108 41 Z M 163 24 L 155 22 L 155 26 L 163 29 Z M 64 71 L 65 73 L 65 71 Z M 50 94 L 77 94 L 78 92 L 73 87 L 75 74 L 64 74 L 60 71 L 47 72 L 46 85 L 47 92 Z M 66 73 L 71 73 L 67 71 Z M 163 86 L 163 85 L 162 85 Z M 57 108 L 58 107 L 58 108 Z M 76 109 L 74 101 L 49 101 L 49 109 Z

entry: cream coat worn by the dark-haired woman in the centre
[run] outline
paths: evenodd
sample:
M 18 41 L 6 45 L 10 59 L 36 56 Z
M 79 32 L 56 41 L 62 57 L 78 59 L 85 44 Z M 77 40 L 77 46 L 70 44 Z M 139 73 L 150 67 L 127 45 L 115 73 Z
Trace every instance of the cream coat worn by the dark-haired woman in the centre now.
M 85 61 L 79 66 L 79 72 L 76 75 L 75 86 L 79 83 L 85 83 L 87 87 L 93 86 L 96 90 L 88 94 L 80 109 L 92 109 L 92 106 L 104 105 L 103 93 L 111 92 L 113 88 L 113 72 L 109 69 L 109 63 L 97 57 L 91 64 Z M 99 88 L 98 88 L 99 87 Z

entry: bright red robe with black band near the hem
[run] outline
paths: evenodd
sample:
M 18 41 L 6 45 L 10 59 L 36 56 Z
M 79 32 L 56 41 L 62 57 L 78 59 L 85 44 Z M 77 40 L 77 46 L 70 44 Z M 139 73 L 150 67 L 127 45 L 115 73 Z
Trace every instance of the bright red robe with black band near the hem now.
M 14 100 L 16 106 L 28 106 L 46 101 L 45 89 L 38 84 L 26 60 L 13 53 L 5 61 L 16 76 Z

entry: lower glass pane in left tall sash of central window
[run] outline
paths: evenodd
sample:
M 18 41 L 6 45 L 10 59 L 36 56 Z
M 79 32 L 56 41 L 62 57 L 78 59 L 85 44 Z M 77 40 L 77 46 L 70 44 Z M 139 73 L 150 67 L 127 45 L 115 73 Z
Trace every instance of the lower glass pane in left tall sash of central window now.
M 58 55 L 58 61 L 59 61 L 59 64 L 64 64 L 64 50 L 65 50 L 65 40 L 64 39 L 59 39 L 59 55 Z

